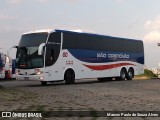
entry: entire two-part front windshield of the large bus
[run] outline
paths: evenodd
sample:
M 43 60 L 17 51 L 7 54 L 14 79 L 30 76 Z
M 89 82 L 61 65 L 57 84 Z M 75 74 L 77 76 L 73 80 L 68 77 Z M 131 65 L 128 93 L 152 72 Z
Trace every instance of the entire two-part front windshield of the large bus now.
M 16 67 L 22 69 L 44 66 L 43 55 L 38 55 L 41 43 L 46 43 L 48 33 L 32 33 L 22 36 L 16 55 Z

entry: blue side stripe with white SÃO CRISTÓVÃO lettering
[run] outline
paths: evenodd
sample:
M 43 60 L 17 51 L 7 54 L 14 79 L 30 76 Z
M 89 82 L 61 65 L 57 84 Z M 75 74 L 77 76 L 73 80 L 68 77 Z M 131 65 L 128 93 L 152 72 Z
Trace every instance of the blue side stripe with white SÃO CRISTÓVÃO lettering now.
M 144 53 L 130 52 L 110 52 L 96 50 L 77 50 L 68 49 L 68 51 L 78 60 L 88 63 L 106 63 L 116 61 L 133 61 L 144 64 Z

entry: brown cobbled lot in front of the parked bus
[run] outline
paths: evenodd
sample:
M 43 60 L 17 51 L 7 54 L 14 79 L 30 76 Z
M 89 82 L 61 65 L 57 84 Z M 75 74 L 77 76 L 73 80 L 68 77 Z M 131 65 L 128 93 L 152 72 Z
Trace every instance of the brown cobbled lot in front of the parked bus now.
M 160 80 L 78 80 L 41 86 L 36 81 L 1 81 L 0 111 L 160 111 Z M 1 119 L 1 118 L 0 118 Z M 51 118 L 42 118 L 51 119 Z M 160 120 L 159 117 L 54 118 L 89 120 Z

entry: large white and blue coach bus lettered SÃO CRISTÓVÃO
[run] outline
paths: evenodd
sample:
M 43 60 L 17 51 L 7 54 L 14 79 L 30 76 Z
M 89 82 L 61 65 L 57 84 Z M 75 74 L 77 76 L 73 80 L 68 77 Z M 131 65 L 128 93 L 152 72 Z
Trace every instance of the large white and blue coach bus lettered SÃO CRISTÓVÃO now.
M 16 46 L 16 79 L 47 82 L 132 80 L 144 72 L 141 40 L 69 30 L 24 33 Z

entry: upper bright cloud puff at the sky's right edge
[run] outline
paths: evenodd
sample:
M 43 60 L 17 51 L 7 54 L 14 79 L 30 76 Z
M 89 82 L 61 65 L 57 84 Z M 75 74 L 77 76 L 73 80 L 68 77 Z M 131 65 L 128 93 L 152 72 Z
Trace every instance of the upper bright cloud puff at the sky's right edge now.
M 160 16 L 156 17 L 154 20 L 148 20 L 145 23 L 145 28 L 152 30 L 160 30 Z

